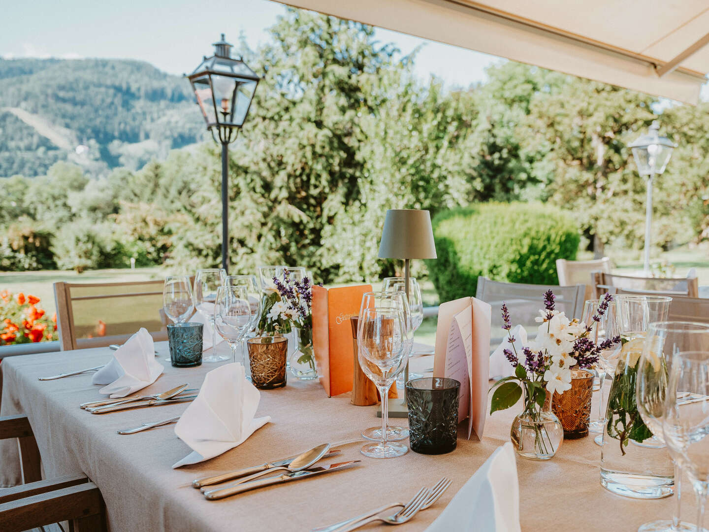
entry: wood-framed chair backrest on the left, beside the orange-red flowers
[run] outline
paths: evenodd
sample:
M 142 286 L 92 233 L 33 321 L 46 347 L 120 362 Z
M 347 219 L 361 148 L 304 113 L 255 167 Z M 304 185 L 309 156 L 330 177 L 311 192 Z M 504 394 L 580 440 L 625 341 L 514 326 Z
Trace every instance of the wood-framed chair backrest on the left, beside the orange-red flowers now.
M 167 340 L 160 320 L 162 279 L 140 282 L 55 282 L 57 330 L 62 350 L 123 343 L 145 327 Z

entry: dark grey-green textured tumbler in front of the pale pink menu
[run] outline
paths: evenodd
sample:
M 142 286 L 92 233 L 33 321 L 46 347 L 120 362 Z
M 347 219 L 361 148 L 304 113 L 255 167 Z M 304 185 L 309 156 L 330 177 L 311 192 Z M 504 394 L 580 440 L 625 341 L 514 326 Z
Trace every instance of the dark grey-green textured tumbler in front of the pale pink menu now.
M 406 383 L 411 450 L 441 455 L 456 448 L 459 392 L 455 379 L 426 377 Z

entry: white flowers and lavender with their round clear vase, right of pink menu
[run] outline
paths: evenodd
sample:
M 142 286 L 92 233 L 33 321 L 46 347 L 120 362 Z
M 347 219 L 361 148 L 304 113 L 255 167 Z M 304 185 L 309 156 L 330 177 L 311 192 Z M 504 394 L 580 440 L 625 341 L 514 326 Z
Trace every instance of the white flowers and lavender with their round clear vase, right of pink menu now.
M 601 321 L 611 298 L 610 294 L 603 297 L 594 321 Z M 523 412 L 513 422 L 511 437 L 518 454 L 535 460 L 552 458 L 563 440 L 561 423 L 551 411 L 554 392 L 562 394 L 571 388 L 572 369 L 593 366 L 601 350 L 620 342 L 620 338 L 613 338 L 596 345 L 588 338 L 592 327 L 578 319 L 569 320 L 554 308 L 554 299 L 552 290 L 545 292 L 545 308 L 535 318 L 540 323 L 537 337 L 520 350 L 510 333 L 510 314 L 503 304 L 502 328 L 508 333 L 511 348 L 504 353 L 515 375 L 498 380 L 491 388 L 490 414 L 508 409 L 524 397 Z

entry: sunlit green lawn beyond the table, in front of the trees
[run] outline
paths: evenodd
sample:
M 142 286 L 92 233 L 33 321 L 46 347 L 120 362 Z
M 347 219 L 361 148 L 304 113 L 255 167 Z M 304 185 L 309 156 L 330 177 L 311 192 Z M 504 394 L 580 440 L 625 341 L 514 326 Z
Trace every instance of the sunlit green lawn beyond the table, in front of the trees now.
M 625 275 L 642 273 L 642 255 L 636 251 L 632 253 L 613 253 L 609 256 L 615 262 L 616 271 Z M 579 257 L 591 258 L 591 257 Z M 696 247 L 693 249 L 683 246 L 676 250 L 654 255 L 652 262 L 666 261 L 674 265 L 674 277 L 683 277 L 690 268 L 696 268 L 699 284 L 709 285 L 709 249 Z M 118 282 L 118 281 L 147 281 L 160 279 L 169 272 L 163 267 L 136 268 L 135 270 L 89 270 L 82 274 L 72 271 L 45 270 L 43 272 L 0 272 L 0 290 L 9 289 L 11 292 L 24 292 L 41 299 L 40 306 L 52 313 L 55 311 L 54 292 L 52 283 L 66 282 Z M 374 289 L 379 289 L 379 282 L 372 283 Z M 342 286 L 342 285 L 340 285 Z M 438 296 L 432 282 L 426 280 L 421 283 L 424 305 L 437 305 Z M 435 340 L 436 318 L 426 318 L 416 331 L 416 341 L 433 343 Z

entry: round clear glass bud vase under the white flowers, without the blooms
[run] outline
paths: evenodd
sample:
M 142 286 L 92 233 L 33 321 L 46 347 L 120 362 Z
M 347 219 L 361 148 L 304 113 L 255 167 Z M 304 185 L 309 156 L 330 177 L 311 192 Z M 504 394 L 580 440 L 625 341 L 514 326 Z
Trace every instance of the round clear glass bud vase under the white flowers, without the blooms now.
M 510 428 L 510 439 L 515 453 L 527 460 L 553 458 L 564 441 L 562 423 L 551 410 L 552 398 L 547 392 L 544 407 L 530 404 L 515 417 Z

